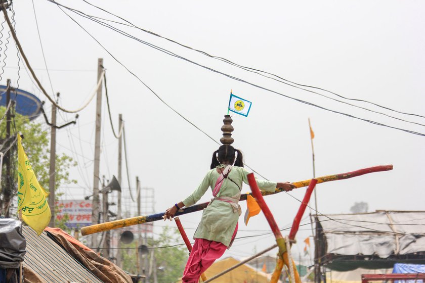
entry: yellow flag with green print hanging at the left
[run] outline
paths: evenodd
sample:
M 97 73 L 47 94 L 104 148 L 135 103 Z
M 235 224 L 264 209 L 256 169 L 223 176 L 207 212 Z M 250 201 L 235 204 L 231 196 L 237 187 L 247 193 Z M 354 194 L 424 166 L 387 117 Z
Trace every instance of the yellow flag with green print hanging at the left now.
M 48 195 L 32 171 L 22 148 L 21 135 L 18 134 L 18 211 L 22 211 L 22 220 L 38 235 L 43 232 L 52 217 L 46 200 Z

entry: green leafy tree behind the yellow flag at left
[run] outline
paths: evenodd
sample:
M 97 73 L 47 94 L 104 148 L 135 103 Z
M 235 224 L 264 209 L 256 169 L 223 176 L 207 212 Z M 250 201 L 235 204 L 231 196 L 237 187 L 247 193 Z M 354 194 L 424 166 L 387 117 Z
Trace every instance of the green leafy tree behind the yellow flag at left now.
M 0 117 L 5 115 L 6 108 L 0 107 Z M 11 123 L 11 135 L 20 133 L 23 135 L 22 146 L 25 150 L 28 160 L 31 163 L 32 169 L 37 176 L 38 182 L 43 188 L 49 191 L 49 167 L 50 167 L 50 156 L 49 156 L 49 132 L 43 129 L 43 124 L 29 119 L 20 114 L 14 113 Z M 6 119 L 0 124 L 0 138 L 4 141 L 6 138 Z M 15 139 L 12 139 L 15 140 Z M 2 142 L 3 144 L 3 142 Z M 2 151 L 5 151 L 8 144 L 5 144 Z M 5 194 L 16 196 L 17 194 L 17 144 L 15 143 L 12 148 L 11 154 L 11 166 L 12 174 L 9 176 L 6 174 L 5 166 L 3 166 L 2 172 L 2 191 L 0 192 L 1 200 L 4 200 Z M 59 187 L 61 184 L 75 183 L 75 180 L 69 179 L 69 168 L 75 166 L 76 162 L 73 162 L 72 158 L 66 154 L 56 156 L 56 176 L 55 176 L 55 187 Z M 6 187 L 6 179 L 9 178 L 11 183 L 10 187 Z M 59 194 L 60 195 L 60 194 Z M 16 207 L 14 203 L 11 207 Z M 4 208 L 3 208 L 4 209 Z M 52 208 L 51 208 L 52 209 Z M 5 211 L 1 211 L 2 214 Z

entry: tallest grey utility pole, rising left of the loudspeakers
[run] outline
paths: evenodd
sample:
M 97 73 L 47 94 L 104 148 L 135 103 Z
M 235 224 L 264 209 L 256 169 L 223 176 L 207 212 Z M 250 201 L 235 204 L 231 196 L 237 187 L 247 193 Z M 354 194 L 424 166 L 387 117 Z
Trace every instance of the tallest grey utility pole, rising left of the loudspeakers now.
M 97 81 L 101 79 L 103 71 L 103 59 L 98 59 Z M 93 172 L 93 209 L 92 223 L 97 224 L 99 220 L 99 163 L 100 163 L 100 123 L 102 118 L 102 83 L 100 84 L 96 95 L 96 133 L 95 133 L 95 164 Z M 96 234 L 92 236 L 92 247 L 97 246 Z

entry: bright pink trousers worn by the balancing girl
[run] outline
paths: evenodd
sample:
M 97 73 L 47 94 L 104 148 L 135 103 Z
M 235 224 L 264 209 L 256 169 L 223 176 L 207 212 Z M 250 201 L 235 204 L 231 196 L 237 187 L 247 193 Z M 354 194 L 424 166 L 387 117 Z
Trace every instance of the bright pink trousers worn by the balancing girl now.
M 238 224 L 236 224 L 232 239 L 235 238 L 237 230 Z M 198 283 L 201 273 L 208 269 L 216 259 L 220 258 L 226 249 L 227 247 L 220 242 L 195 239 L 183 272 L 182 283 Z

